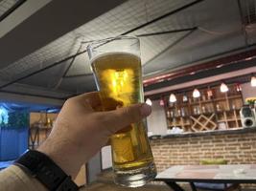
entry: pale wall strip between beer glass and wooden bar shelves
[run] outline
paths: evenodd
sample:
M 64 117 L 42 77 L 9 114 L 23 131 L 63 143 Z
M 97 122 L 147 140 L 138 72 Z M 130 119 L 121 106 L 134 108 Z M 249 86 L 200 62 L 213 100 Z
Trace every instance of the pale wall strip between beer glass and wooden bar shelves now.
M 167 133 L 167 121 L 165 109 L 160 106 L 159 100 L 153 100 L 151 105 L 151 116 L 147 117 L 148 132 L 153 135 L 165 135 Z

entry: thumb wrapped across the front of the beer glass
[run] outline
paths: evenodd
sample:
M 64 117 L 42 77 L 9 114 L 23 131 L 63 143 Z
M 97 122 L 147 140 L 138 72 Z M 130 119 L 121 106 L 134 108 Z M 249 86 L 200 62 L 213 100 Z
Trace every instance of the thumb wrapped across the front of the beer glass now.
M 134 104 L 128 107 L 118 108 L 108 112 L 101 112 L 101 119 L 104 121 L 105 129 L 110 134 L 127 127 L 129 124 L 138 122 L 151 114 L 151 106 L 146 103 Z

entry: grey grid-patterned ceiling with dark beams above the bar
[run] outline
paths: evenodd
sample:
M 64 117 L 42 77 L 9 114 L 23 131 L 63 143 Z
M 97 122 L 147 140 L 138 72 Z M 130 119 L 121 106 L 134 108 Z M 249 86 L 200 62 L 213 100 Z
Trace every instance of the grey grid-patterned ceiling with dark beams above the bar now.
M 256 49 L 255 0 L 35 2 L 0 0 L 2 93 L 94 91 L 86 46 L 120 34 L 139 36 L 145 79 Z

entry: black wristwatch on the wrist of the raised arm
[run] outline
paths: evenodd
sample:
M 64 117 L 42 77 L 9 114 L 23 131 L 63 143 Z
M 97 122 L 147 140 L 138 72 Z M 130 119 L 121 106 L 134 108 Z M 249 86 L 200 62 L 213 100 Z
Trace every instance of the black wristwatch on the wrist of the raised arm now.
M 29 150 L 14 164 L 25 171 L 29 171 L 33 177 L 39 180 L 51 191 L 77 191 L 78 185 L 71 180 L 71 177 L 45 154 Z

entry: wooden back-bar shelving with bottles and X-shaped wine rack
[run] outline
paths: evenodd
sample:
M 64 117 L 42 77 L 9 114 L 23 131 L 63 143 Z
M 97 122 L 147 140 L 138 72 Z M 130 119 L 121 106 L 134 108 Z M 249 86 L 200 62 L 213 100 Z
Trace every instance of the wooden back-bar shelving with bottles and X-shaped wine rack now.
M 166 112 L 170 112 L 168 116 L 171 113 L 173 115 L 180 114 L 181 110 L 184 110 L 186 115 L 167 117 L 169 128 L 179 126 L 184 132 L 200 132 L 218 130 L 218 123 L 220 122 L 225 123 L 226 129 L 241 126 L 240 109 L 238 108 L 244 105 L 243 96 L 241 93 L 236 92 L 235 84 L 229 85 L 228 88 L 229 92 L 223 94 L 220 91 L 220 86 L 211 87 L 213 92 L 213 96 L 211 97 L 207 97 L 207 88 L 200 89 L 201 97 L 197 99 L 192 97 L 192 91 L 186 92 L 186 95 L 189 97 L 189 101 L 187 102 L 182 102 L 183 94 L 175 95 L 177 102 L 165 108 Z M 217 108 L 221 110 L 217 111 Z M 205 113 L 202 113 L 202 111 Z

